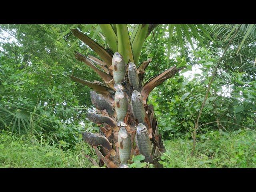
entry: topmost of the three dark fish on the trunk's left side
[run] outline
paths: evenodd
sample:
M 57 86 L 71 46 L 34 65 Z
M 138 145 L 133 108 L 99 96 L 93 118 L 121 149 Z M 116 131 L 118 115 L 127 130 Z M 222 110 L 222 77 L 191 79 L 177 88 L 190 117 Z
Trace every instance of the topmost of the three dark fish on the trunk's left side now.
M 104 110 L 112 116 L 116 116 L 116 111 L 110 101 L 108 101 L 102 94 L 96 93 L 96 91 L 90 91 L 90 98 L 92 104 L 99 110 Z

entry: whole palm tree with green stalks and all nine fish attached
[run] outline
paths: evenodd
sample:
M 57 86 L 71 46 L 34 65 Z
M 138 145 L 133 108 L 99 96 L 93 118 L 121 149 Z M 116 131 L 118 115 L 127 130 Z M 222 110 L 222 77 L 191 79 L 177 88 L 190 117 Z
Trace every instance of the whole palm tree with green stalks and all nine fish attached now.
M 139 25 L 130 38 L 126 24 L 100 24 L 108 50 L 79 30 L 71 29 L 74 36 L 92 48 L 102 59 L 83 56 L 78 52 L 75 54 L 103 82 L 89 82 L 71 75 L 69 77 L 93 89 L 90 97 L 97 113 L 88 113 L 87 117 L 101 125 L 100 132 L 83 132 L 82 135 L 84 141 L 94 147 L 99 165 L 106 164 L 108 168 L 126 168 L 132 155 L 138 154 L 145 156 L 145 162 L 157 164 L 160 152 L 165 151 L 158 133 L 154 107 L 147 104 L 148 95 L 182 68 L 172 66 L 143 85 L 144 73 L 151 59 L 139 65 L 140 52 L 146 37 L 156 25 Z

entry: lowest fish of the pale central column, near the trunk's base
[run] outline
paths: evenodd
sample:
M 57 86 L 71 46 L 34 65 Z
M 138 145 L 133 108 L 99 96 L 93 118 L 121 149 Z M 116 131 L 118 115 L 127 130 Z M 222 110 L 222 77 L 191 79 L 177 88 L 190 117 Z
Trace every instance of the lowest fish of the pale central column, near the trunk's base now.
M 119 158 L 121 164 L 127 164 L 130 159 L 130 154 L 132 150 L 131 136 L 127 132 L 125 127 L 121 127 L 118 132 L 118 142 L 119 142 Z

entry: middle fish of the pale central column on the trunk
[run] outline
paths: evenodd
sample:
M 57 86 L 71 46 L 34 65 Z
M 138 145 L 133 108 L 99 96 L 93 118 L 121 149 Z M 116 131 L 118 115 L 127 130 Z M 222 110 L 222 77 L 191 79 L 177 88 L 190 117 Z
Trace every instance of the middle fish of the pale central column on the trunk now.
M 127 98 L 122 89 L 118 89 L 115 94 L 115 110 L 117 114 L 117 122 L 124 121 L 127 113 Z

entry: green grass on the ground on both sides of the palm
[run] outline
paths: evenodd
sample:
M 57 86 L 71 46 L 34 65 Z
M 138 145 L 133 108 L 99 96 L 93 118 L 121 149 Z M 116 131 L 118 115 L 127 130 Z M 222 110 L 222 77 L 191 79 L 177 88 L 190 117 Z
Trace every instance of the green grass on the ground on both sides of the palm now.
M 195 155 L 191 156 L 189 135 L 165 141 L 166 152 L 161 156 L 165 168 L 255 168 L 256 132 L 208 131 L 198 135 Z M 85 142 L 70 150 L 64 144 L 54 144 L 47 136 L 16 136 L 0 132 L 1 168 L 90 168 L 85 158 L 96 159 L 94 150 Z

